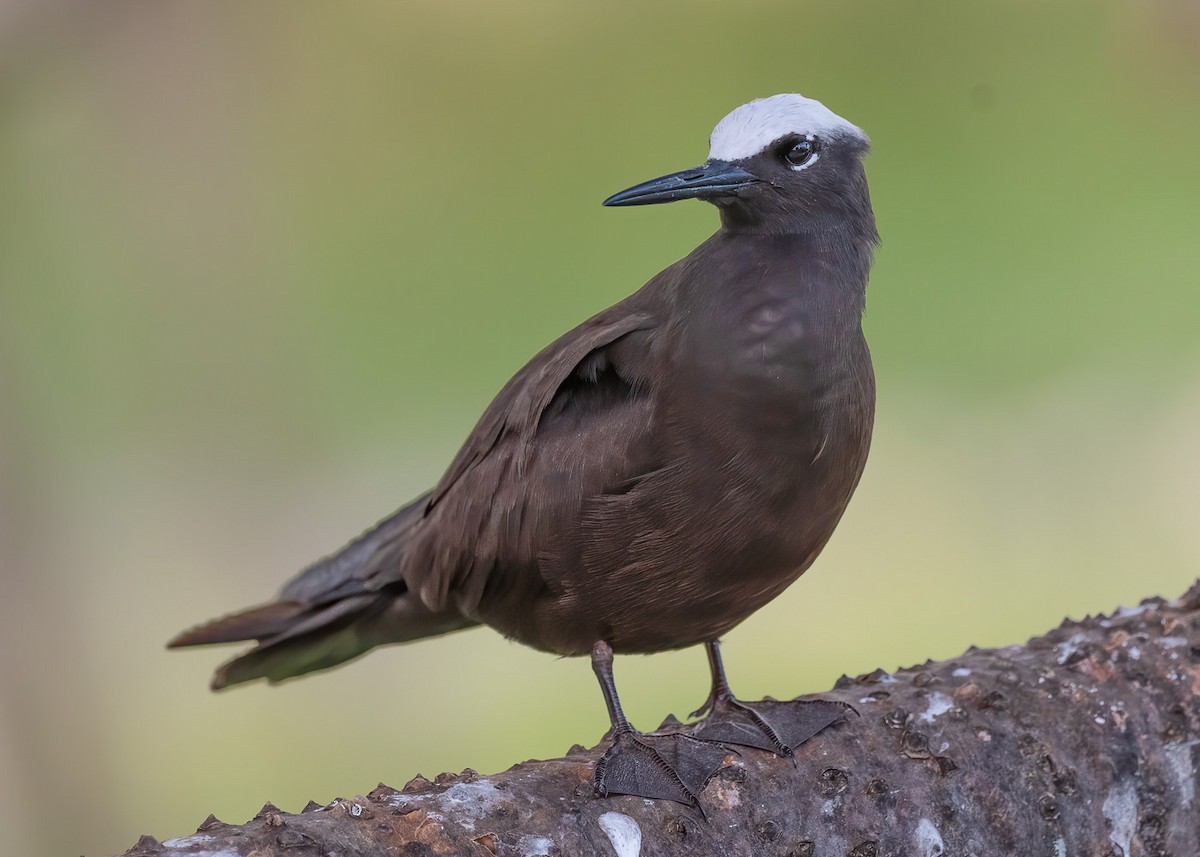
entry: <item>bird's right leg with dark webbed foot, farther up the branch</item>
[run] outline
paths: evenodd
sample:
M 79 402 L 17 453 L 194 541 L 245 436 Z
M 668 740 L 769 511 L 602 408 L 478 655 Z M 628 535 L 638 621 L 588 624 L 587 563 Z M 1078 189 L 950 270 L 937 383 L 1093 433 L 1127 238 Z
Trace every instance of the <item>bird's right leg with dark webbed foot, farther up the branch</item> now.
M 733 696 L 725 678 L 720 642 L 710 640 L 704 643 L 704 651 L 713 673 L 713 689 L 704 705 L 692 712 L 692 717 L 704 718 L 696 729 L 697 738 L 791 756 L 797 747 L 840 719 L 847 709 L 853 711 L 832 700 L 742 702 Z

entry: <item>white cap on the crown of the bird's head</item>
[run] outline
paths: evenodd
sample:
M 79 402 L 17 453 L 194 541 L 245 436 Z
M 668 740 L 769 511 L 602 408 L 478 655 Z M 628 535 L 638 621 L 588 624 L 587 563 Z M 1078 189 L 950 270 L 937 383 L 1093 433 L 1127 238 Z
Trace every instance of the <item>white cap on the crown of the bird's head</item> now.
M 773 95 L 743 104 L 719 121 L 709 139 L 708 160 L 740 161 L 752 157 L 787 134 L 848 134 L 866 139 L 860 127 L 815 98 L 796 94 Z

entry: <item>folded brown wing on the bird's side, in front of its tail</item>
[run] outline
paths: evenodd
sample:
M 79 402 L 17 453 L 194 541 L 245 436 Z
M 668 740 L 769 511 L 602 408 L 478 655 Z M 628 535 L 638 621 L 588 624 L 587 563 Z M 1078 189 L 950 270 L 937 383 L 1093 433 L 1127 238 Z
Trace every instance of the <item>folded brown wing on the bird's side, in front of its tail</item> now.
M 427 609 L 446 609 L 451 591 L 469 609 L 487 587 L 544 585 L 536 569 L 544 545 L 534 535 L 546 538 L 577 515 L 589 483 L 619 480 L 629 469 L 619 460 L 631 439 L 616 430 L 630 422 L 624 414 L 641 379 L 630 354 L 617 352 L 654 324 L 644 312 L 601 313 L 500 390 L 430 495 L 430 526 L 409 539 L 402 575 Z

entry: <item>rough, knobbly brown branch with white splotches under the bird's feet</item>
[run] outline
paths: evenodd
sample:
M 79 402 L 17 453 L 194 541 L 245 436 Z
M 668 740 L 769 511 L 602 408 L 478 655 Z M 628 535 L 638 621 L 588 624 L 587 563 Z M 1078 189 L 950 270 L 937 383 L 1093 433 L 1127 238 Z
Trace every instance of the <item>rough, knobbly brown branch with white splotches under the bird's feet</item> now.
M 504 773 L 268 804 L 131 856 L 1200 855 L 1200 582 L 1025 646 L 842 678 L 848 717 L 794 763 L 731 753 L 703 814 L 598 798 L 593 749 Z M 707 819 L 704 817 L 707 815 Z

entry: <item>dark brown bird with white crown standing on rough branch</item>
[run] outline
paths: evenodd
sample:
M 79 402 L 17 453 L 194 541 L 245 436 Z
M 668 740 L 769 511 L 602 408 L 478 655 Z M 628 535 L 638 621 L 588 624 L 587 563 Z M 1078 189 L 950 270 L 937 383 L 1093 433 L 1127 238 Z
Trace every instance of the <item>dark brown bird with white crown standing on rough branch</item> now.
M 718 742 L 791 755 L 844 707 L 734 699 L 718 639 L 811 565 L 863 473 L 868 145 L 820 102 L 776 95 L 725 116 L 702 166 L 606 199 L 703 199 L 721 227 L 538 353 L 432 491 L 274 601 L 170 646 L 256 641 L 217 689 L 486 624 L 590 654 L 612 723 L 601 795 L 698 805 Z M 691 735 L 634 730 L 613 653 L 696 643 L 713 677 L 704 720 Z

